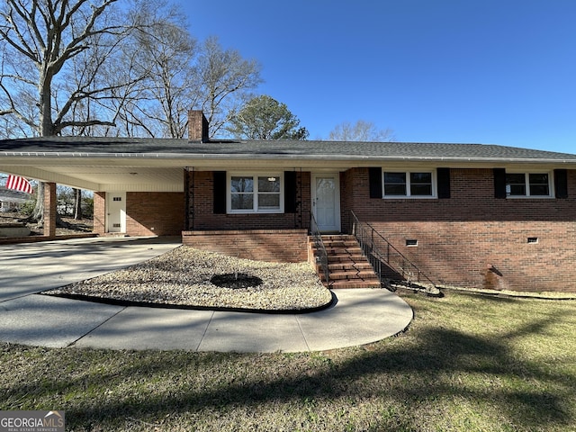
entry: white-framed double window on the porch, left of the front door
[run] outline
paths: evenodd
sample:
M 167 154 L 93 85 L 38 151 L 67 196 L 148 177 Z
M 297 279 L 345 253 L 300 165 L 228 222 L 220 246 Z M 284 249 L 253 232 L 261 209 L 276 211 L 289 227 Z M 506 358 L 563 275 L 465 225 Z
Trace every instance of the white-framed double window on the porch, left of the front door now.
M 284 179 L 280 173 L 229 173 L 229 213 L 283 213 Z

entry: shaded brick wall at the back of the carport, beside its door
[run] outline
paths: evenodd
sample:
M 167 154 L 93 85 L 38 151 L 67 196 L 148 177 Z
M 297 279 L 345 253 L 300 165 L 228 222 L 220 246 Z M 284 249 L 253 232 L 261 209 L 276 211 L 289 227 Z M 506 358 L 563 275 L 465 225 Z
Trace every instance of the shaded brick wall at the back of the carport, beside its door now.
M 179 236 L 184 229 L 184 193 L 126 193 L 126 234 Z

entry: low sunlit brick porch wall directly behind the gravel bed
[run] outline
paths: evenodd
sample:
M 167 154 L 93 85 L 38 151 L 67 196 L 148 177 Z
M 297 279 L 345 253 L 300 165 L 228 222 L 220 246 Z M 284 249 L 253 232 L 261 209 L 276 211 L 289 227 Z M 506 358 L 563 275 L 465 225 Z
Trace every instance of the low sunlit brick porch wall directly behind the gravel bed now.
M 260 261 L 308 260 L 306 229 L 184 231 L 182 242 L 189 247 Z

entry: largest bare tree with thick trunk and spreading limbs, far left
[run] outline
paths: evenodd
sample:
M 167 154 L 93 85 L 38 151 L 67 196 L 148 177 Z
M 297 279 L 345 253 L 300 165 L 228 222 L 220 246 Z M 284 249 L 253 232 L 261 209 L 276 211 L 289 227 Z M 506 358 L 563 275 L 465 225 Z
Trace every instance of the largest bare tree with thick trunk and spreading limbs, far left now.
M 72 4 L 66 0 L 6 0 L 0 8 L 0 36 L 7 44 L 3 102 L 7 112 L 29 126 L 32 135 L 46 137 L 71 126 L 112 124 L 113 113 L 109 119 L 78 120 L 71 112 L 76 104 L 110 92 L 108 84 L 97 86 L 94 80 L 113 61 L 121 41 L 130 33 L 130 25 L 118 23 L 117 14 L 110 14 L 116 1 L 102 0 L 93 6 L 88 0 Z M 90 61 L 78 70 L 78 63 L 72 60 L 86 51 L 90 51 Z M 70 87 L 65 79 L 69 76 L 82 79 Z M 115 86 L 121 85 L 124 83 Z

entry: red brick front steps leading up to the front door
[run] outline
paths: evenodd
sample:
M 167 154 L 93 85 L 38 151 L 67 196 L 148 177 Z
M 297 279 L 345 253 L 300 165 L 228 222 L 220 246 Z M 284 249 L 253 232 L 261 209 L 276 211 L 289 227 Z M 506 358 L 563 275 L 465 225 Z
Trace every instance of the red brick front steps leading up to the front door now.
M 314 256 L 318 256 L 313 239 L 310 241 Z M 316 271 L 324 285 L 330 289 L 381 287 L 378 276 L 374 273 L 374 269 L 354 236 L 322 236 L 322 242 L 328 254 L 329 283 L 327 284 L 326 276 L 318 261 Z

